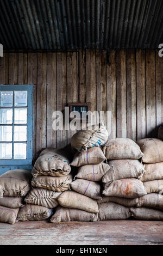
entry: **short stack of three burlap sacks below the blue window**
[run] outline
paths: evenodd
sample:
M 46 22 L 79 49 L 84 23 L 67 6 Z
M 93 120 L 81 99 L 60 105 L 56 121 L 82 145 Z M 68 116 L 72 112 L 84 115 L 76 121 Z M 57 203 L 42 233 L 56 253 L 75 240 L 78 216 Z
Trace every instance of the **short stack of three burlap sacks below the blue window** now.
M 0 176 L 0 222 L 14 224 L 30 190 L 31 170 L 9 170 Z

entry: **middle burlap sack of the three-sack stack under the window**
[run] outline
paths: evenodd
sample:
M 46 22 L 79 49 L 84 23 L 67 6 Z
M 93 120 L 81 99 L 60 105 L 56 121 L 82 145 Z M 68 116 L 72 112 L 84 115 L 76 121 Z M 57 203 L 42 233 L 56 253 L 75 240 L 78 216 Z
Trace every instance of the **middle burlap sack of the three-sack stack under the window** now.
M 8 208 L 20 208 L 23 205 L 23 197 L 3 197 L 0 198 L 0 205 Z

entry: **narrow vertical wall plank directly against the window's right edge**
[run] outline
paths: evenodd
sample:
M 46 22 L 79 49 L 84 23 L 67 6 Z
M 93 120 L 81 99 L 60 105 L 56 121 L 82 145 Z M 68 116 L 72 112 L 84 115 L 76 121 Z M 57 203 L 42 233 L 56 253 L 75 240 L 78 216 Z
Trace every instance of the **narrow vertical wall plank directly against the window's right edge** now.
M 32 83 L 33 88 L 33 157 L 36 157 L 36 107 L 37 107 L 37 53 L 32 53 L 33 69 L 32 69 Z

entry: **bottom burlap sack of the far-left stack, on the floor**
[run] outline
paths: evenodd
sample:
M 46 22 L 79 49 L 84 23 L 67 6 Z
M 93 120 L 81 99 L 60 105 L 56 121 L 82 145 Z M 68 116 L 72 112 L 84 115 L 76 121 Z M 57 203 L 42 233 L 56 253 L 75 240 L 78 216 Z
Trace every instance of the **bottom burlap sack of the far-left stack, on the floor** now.
M 0 205 L 0 222 L 14 224 L 15 222 L 17 222 L 18 211 L 19 208 L 11 209 Z

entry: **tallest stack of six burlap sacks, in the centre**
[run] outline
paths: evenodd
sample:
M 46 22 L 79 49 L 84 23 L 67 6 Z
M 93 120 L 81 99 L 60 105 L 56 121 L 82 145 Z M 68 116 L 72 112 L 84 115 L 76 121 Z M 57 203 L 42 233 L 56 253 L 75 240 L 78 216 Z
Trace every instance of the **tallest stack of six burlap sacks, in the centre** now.
M 76 167 L 71 191 L 63 192 L 58 197 L 60 206 L 56 209 L 51 222 L 60 221 L 93 221 L 98 213 L 97 199 L 101 197 L 103 175 L 109 166 L 103 163 L 106 157 L 101 145 L 108 139 L 108 131 L 104 126 L 97 130 L 77 132 L 71 140 L 71 145 L 78 152 L 74 155 L 71 166 Z

